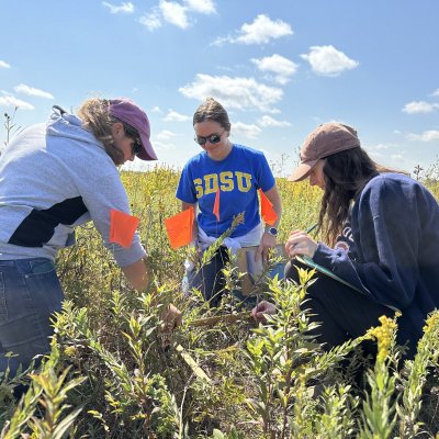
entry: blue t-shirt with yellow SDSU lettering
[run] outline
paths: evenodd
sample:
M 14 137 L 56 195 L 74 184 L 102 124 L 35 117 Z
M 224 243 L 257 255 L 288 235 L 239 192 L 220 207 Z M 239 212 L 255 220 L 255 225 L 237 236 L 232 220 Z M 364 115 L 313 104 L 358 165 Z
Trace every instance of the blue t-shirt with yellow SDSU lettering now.
M 210 236 L 218 237 L 232 226 L 234 216 L 245 212 L 232 237 L 243 236 L 260 223 L 258 189 L 269 191 L 274 177 L 261 151 L 234 145 L 224 160 L 212 160 L 202 151 L 184 166 L 176 196 L 185 203 L 198 203 L 198 223 Z M 213 214 L 219 188 L 219 222 Z

